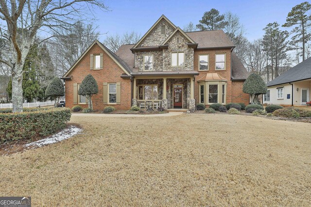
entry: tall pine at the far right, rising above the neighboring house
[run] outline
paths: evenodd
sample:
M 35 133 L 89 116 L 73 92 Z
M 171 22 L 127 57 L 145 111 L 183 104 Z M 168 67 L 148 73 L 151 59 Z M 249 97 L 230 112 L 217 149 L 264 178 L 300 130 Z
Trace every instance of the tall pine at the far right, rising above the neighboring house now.
M 307 33 L 307 29 L 311 26 L 311 16 L 307 14 L 310 10 L 311 4 L 307 1 L 294 6 L 292 11 L 288 13 L 286 23 L 282 25 L 282 27 L 297 25 L 292 30 L 295 35 L 292 37 L 291 45 L 302 44 L 302 61 L 305 60 L 305 44 L 311 39 L 311 34 Z

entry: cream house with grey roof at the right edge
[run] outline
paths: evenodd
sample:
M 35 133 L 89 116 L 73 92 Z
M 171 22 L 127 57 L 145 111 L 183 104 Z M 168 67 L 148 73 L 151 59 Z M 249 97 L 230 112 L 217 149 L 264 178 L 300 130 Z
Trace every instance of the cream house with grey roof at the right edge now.
M 311 96 L 311 58 L 267 83 L 263 103 L 284 106 L 306 105 Z

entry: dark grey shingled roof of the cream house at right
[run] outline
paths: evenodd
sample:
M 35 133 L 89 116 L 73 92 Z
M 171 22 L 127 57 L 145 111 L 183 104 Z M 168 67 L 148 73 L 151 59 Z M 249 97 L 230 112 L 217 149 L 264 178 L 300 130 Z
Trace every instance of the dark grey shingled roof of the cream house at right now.
M 311 58 L 295 65 L 282 75 L 267 83 L 267 86 L 295 82 L 298 80 L 311 79 Z

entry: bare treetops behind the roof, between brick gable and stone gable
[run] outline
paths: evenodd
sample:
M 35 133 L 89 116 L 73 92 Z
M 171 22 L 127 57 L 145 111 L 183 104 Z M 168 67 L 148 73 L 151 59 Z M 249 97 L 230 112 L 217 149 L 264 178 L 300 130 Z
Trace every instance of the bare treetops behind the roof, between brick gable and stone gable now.
M 126 32 L 122 36 L 119 34 L 107 36 L 104 40 L 104 45 L 111 51 L 116 52 L 121 45 L 136 44 L 140 38 L 141 36 L 137 32 Z

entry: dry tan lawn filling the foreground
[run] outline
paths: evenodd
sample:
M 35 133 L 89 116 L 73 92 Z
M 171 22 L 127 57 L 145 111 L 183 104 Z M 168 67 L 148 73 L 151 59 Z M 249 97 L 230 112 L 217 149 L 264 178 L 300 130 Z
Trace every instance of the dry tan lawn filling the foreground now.
M 34 206 L 310 206 L 311 125 L 260 117 L 72 117 L 84 134 L 0 157 Z

